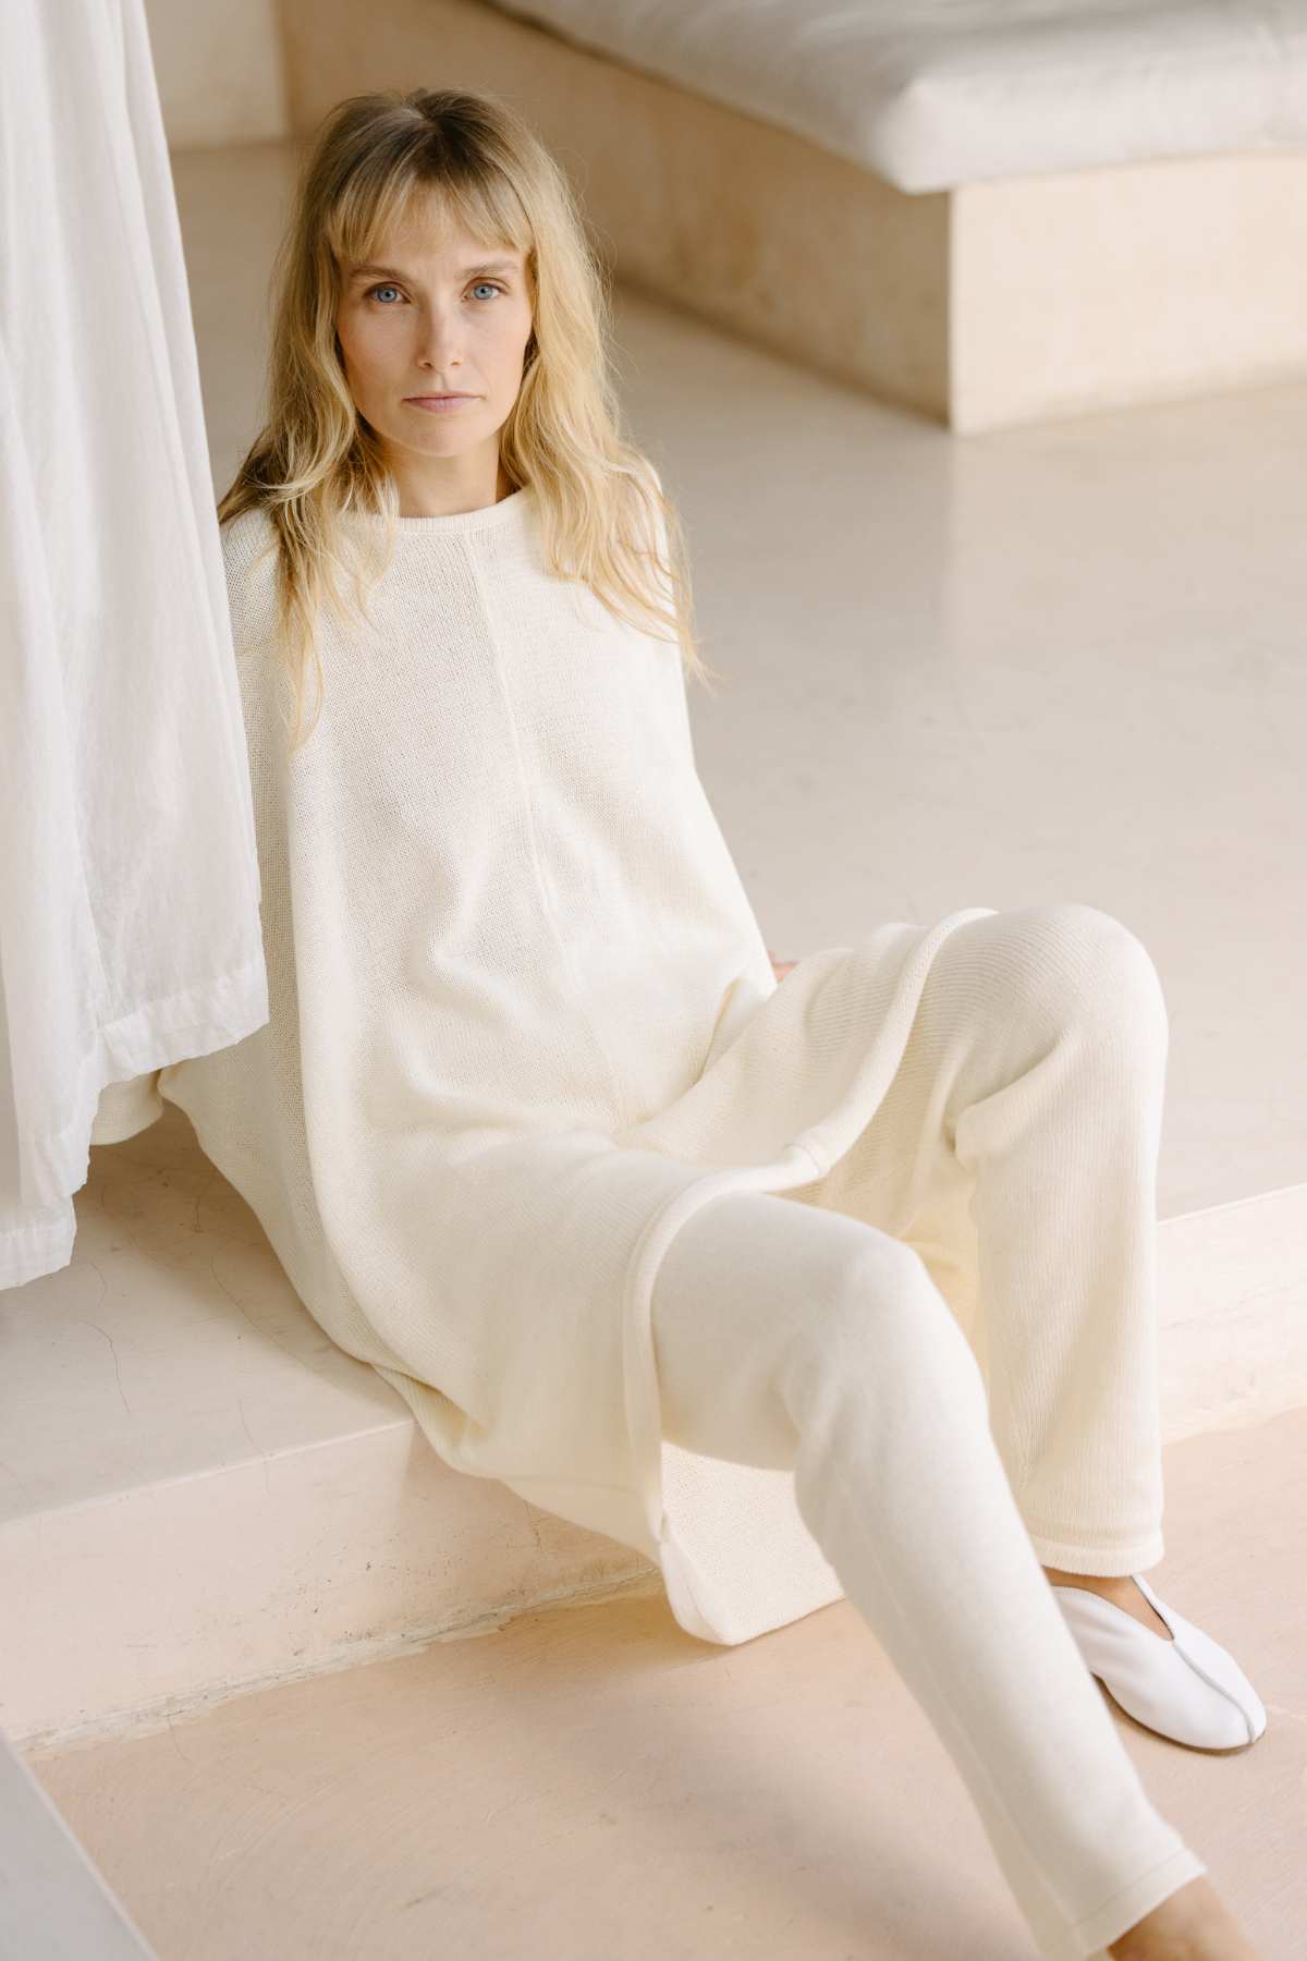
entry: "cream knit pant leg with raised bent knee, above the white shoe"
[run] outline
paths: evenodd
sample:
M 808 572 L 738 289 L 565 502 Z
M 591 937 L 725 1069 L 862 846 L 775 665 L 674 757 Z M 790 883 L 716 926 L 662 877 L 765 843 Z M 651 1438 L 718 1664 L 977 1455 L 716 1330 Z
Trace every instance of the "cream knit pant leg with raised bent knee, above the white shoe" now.
M 1042 1565 L 1156 1565 L 1156 1163 L 1168 1016 L 1093 906 L 999 912 L 931 967 L 903 1063 L 815 1194 L 907 1239 L 982 1359 Z

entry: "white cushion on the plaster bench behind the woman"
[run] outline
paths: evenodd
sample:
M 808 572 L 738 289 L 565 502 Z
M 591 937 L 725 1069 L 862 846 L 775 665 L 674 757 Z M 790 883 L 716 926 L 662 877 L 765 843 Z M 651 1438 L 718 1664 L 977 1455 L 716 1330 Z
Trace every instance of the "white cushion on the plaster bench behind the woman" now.
M 1307 145 L 1307 0 L 492 0 L 901 190 Z

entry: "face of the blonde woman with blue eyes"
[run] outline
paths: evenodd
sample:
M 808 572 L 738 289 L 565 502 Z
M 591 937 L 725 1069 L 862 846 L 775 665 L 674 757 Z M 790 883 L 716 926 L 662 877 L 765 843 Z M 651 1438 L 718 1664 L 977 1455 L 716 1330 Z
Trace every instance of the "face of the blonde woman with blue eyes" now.
M 460 227 L 398 231 L 374 261 L 341 269 L 335 331 L 355 406 L 402 484 L 462 484 L 480 463 L 494 473 L 531 337 L 521 253 Z M 413 402 L 451 392 L 468 400 Z M 437 459 L 459 467 L 431 469 Z

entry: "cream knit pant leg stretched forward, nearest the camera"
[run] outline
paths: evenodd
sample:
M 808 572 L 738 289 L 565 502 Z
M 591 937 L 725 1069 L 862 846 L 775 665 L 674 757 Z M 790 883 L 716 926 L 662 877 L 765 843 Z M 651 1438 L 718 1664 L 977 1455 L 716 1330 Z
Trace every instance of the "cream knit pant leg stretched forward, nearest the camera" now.
M 653 1335 L 674 1443 L 794 1471 L 1042 1955 L 1099 1953 L 1207 1871 L 1144 1794 L 1015 1508 L 976 1357 L 911 1247 L 784 1196 L 719 1196 L 668 1247 Z

